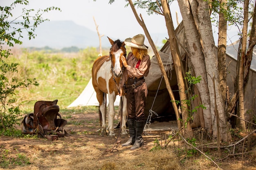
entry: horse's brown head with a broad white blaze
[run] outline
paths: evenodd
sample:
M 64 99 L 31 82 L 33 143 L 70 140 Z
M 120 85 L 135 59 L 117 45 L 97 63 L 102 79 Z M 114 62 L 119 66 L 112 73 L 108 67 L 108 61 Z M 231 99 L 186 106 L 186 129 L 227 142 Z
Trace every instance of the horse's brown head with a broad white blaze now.
M 126 57 L 125 44 L 120 40 L 113 41 L 110 38 L 108 38 L 108 40 L 112 45 L 109 52 L 110 60 L 112 62 L 112 72 L 116 77 L 120 77 L 123 72 L 121 56 L 124 55 Z

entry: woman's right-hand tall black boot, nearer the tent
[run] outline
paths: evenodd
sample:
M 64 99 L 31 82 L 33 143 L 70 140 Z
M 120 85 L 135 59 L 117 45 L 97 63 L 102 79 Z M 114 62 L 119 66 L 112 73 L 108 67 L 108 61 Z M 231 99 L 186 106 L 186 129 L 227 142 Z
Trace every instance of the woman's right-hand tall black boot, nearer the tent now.
M 144 140 L 142 139 L 144 121 L 135 121 L 135 129 L 136 129 L 136 138 L 135 138 L 134 145 L 131 147 L 131 150 L 140 148 L 144 144 Z

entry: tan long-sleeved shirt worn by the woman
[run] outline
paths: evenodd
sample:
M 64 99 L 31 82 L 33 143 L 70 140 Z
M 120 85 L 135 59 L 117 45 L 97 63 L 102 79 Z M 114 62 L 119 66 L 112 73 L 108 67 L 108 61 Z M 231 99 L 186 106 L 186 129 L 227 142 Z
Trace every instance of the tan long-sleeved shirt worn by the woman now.
M 143 76 L 147 76 L 149 72 L 149 67 L 151 65 L 150 57 L 149 55 L 146 55 L 140 62 L 139 68 L 135 68 L 138 60 L 137 58 L 132 54 L 132 52 L 128 53 L 127 56 L 127 64 L 128 67 L 124 68 L 124 73 L 121 80 L 121 87 L 124 85 L 124 83 L 127 81 L 128 77 L 136 77 L 141 78 Z

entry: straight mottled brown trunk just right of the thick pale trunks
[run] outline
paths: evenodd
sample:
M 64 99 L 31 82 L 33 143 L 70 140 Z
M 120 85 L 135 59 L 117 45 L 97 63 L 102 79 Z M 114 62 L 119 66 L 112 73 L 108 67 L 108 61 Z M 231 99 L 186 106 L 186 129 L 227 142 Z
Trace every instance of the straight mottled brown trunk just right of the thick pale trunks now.
M 227 94 L 226 46 L 227 46 L 227 20 L 224 12 L 227 10 L 227 0 L 220 0 L 219 36 L 218 36 L 218 71 L 220 74 L 220 89 L 223 102 Z

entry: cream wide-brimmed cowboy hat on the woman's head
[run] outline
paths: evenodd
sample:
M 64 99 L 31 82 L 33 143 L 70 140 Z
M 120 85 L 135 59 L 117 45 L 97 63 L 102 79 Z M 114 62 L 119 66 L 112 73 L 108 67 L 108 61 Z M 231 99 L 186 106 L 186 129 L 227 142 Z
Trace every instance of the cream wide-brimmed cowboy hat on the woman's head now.
M 137 49 L 147 50 L 148 47 L 144 45 L 144 40 L 145 40 L 144 35 L 138 34 L 132 38 L 126 38 L 124 40 L 124 44 L 126 44 L 127 46 L 130 46 L 130 47 L 137 48 Z

